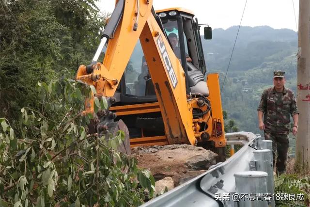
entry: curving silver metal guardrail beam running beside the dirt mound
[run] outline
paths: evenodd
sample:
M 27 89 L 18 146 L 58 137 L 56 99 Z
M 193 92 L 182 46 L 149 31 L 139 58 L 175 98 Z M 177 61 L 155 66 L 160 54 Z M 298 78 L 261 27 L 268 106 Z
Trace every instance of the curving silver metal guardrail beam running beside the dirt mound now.
M 255 135 L 251 132 L 235 132 L 227 133 L 225 134 L 225 137 L 228 144 L 241 144 L 243 145 L 243 147 L 225 162 L 220 162 L 216 165 L 211 166 L 209 170 L 204 172 L 202 175 L 199 175 L 187 181 L 186 183 L 172 189 L 171 191 L 168 191 L 163 195 L 148 201 L 141 207 L 237 207 L 238 202 L 234 202 L 232 199 L 220 201 L 219 199 L 216 199 L 216 195 L 218 193 L 230 193 L 230 195 L 232 195 L 236 192 L 234 175 L 245 171 L 255 171 L 257 165 L 261 165 L 257 164 L 257 158 L 254 158 L 253 152 L 261 148 L 260 141 L 262 139 L 262 136 Z M 266 155 L 269 156 L 269 154 L 271 153 L 268 150 L 268 153 Z M 261 162 L 259 163 L 267 163 L 268 169 L 270 167 L 273 169 L 272 156 L 271 158 L 268 157 L 267 160 L 261 160 Z M 272 175 L 269 176 L 269 174 Z M 267 180 L 268 182 L 270 182 L 270 179 L 272 177 L 273 182 L 273 173 L 270 173 L 270 170 L 269 174 L 269 178 L 264 178 L 265 186 L 263 186 L 263 188 L 266 188 L 266 191 Z M 250 185 L 250 183 L 245 183 L 244 185 Z M 269 191 L 269 187 L 268 192 L 272 193 Z M 268 202 L 268 204 L 267 201 L 265 201 L 259 206 L 255 206 L 263 207 L 268 205 L 274 207 L 274 201 Z

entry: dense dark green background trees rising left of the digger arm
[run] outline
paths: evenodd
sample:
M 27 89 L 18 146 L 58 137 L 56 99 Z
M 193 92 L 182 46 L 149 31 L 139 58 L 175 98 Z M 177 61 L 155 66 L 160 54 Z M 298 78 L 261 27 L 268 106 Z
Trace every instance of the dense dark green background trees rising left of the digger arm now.
M 11 124 L 35 107 L 33 83 L 73 76 L 99 44 L 104 16 L 94 0 L 0 1 L 0 116 Z

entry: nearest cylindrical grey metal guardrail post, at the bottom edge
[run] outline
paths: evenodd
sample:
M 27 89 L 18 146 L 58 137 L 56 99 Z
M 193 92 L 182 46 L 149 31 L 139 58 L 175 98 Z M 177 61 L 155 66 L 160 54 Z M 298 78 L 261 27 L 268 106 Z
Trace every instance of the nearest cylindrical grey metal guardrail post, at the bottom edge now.
M 235 173 L 236 193 L 240 195 L 238 207 L 268 207 L 266 172 L 245 171 Z M 244 195 L 243 197 L 241 197 Z

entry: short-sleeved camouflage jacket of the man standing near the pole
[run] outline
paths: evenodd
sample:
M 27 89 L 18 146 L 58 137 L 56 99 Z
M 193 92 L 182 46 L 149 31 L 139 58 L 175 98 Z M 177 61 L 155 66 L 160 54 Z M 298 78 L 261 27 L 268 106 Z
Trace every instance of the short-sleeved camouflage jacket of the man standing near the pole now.
M 263 122 L 267 129 L 288 128 L 290 114 L 299 114 L 293 91 L 285 87 L 281 93 L 274 87 L 264 90 L 257 110 L 264 112 Z

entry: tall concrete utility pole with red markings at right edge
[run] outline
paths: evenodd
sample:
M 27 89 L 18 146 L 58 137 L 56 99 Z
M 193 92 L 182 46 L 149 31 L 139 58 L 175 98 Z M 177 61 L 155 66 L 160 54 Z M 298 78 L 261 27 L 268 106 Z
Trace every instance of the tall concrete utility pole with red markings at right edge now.
M 310 168 L 310 1 L 299 0 L 296 161 L 303 173 Z

